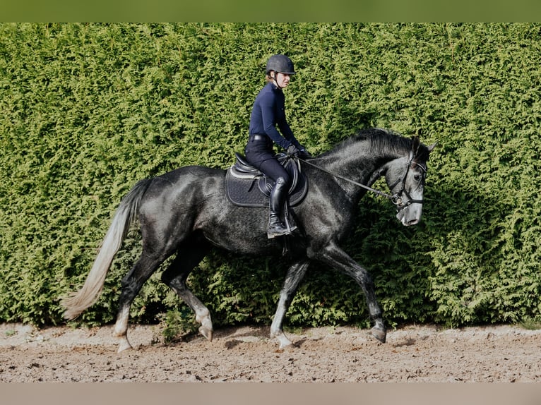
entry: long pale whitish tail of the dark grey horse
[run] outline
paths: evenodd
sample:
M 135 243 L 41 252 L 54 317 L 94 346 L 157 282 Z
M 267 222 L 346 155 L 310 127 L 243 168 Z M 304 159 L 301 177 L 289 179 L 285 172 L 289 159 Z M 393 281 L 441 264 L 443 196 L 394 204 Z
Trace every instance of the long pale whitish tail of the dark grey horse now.
M 99 298 L 114 255 L 120 249 L 131 224 L 135 222 L 141 199 L 151 181 L 151 179 L 139 181 L 122 199 L 117 212 L 114 214 L 112 224 L 102 241 L 100 252 L 97 254 L 92 269 L 88 273 L 85 284 L 78 292 L 62 298 L 61 305 L 66 308 L 64 311 L 65 319 L 77 318 L 83 310 L 92 306 Z

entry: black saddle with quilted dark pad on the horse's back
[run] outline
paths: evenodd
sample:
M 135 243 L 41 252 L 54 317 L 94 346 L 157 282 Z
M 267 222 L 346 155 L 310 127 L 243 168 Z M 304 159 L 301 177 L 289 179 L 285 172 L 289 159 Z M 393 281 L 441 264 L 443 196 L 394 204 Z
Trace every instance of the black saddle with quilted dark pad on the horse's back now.
M 246 161 L 246 157 L 235 152 L 236 162 L 227 169 L 225 189 L 227 198 L 241 207 L 268 207 L 268 198 L 274 188 L 273 179 L 269 179 L 256 167 Z M 297 159 L 285 153 L 278 154 L 278 162 L 290 174 L 292 184 L 289 190 L 289 204 L 298 205 L 308 191 L 308 181 L 300 169 Z

